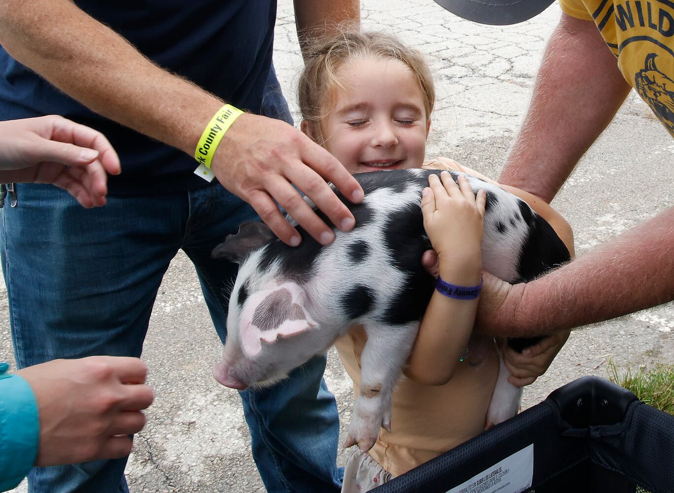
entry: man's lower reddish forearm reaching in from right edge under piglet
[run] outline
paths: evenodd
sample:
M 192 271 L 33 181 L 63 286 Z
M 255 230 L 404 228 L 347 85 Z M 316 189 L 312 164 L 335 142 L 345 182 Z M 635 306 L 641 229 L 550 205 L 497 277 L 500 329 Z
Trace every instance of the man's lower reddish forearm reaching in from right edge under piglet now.
M 501 335 L 545 334 L 674 299 L 674 207 L 550 274 L 513 287 Z

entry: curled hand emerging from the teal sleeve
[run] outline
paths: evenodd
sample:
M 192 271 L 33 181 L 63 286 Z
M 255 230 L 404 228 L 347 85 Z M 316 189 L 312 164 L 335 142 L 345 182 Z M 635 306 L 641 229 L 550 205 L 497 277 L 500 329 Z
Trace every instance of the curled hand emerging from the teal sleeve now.
M 40 417 L 36 466 L 115 459 L 131 452 L 129 434 L 145 425 L 154 399 L 138 358 L 55 359 L 17 372 L 33 390 Z

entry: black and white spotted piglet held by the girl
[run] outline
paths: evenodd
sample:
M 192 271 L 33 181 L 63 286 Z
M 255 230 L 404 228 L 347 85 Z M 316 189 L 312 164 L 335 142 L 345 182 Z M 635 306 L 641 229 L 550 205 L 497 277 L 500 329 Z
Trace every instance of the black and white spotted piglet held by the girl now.
M 356 227 L 348 233 L 335 230 L 331 245 L 320 245 L 300 229 L 303 241 L 291 248 L 262 223 L 246 223 L 218 245 L 214 257 L 241 265 L 229 305 L 228 339 L 213 368 L 216 380 L 238 389 L 272 384 L 326 351 L 352 324 L 363 324 L 368 341 L 348 440 L 369 450 L 379 427 L 390 428 L 392 391 L 435 289 L 421 266 L 423 252 L 431 248 L 421 214 L 430 173 L 440 172 L 355 175 L 365 200 L 357 205 L 342 200 Z M 526 202 L 467 176 L 475 192 L 487 191 L 485 270 L 516 283 L 570 259 L 555 231 Z M 514 341 L 520 348 L 532 343 Z M 521 390 L 508 376 L 501 361 L 487 422 L 498 424 L 518 409 Z

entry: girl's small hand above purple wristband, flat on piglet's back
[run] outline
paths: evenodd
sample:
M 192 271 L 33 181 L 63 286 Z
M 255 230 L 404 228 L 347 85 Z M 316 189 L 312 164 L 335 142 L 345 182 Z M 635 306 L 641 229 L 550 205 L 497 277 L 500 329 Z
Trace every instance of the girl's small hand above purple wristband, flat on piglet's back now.
M 464 281 L 464 277 L 475 280 L 475 269 L 470 267 L 476 263 L 481 266 L 486 200 L 484 190 L 477 196 L 473 194 L 464 175 L 459 175 L 458 185 L 447 171 L 443 171 L 440 178 L 429 176 L 429 187 L 423 190 L 421 199 L 424 228 L 439 258 L 440 277 L 448 282 L 468 281 Z M 464 272 L 462 266 L 466 267 Z

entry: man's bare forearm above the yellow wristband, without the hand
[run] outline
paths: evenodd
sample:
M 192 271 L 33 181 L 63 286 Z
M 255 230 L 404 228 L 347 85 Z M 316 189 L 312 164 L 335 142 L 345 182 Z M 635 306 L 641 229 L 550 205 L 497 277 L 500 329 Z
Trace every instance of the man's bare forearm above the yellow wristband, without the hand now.
M 100 115 L 185 152 L 222 105 L 154 65 L 124 38 L 67 0 L 0 7 L 7 52 Z

